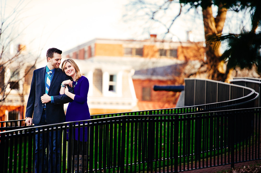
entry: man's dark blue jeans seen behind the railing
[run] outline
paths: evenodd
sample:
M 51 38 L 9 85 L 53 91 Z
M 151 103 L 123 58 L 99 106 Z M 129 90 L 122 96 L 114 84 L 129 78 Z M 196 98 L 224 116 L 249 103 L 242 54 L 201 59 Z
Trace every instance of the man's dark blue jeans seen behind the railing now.
M 41 115 L 40 123 L 34 126 L 42 125 L 47 125 L 45 110 Z M 35 134 L 35 173 L 60 172 L 61 131 L 58 131 L 57 135 L 55 131 L 46 132 L 47 128 L 49 127 L 36 128 L 38 133 Z M 48 157 L 46 151 L 49 151 Z

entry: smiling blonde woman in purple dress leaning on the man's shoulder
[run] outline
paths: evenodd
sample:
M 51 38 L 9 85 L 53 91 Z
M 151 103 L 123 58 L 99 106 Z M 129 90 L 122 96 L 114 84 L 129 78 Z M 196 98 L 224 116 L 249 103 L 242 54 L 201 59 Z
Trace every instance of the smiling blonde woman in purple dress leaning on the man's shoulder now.
M 79 70 L 79 67 L 72 59 L 64 60 L 62 63 L 62 71 L 65 72 L 68 76 L 72 78 L 71 80 L 63 81 L 61 84 L 60 94 L 66 94 L 70 98 L 73 99 L 72 102 L 69 103 L 67 111 L 66 111 L 66 122 L 68 121 L 80 121 L 91 119 L 89 107 L 87 105 L 87 95 L 89 90 L 89 81 L 85 76 L 82 76 Z M 68 87 L 74 88 L 74 94 L 68 91 Z M 74 163 L 77 165 L 77 147 L 79 140 L 79 170 L 82 170 L 82 160 L 84 159 L 84 171 L 86 170 L 86 158 L 87 158 L 87 134 L 88 129 L 85 127 L 84 133 L 84 153 L 82 153 L 82 136 L 83 136 L 83 128 L 80 128 L 80 139 L 78 139 L 78 129 L 75 130 L 75 137 L 73 137 L 74 142 Z M 74 134 L 73 134 L 74 135 Z M 67 133 L 68 139 L 68 133 Z M 84 157 L 82 157 L 84 156 Z M 77 172 L 77 166 L 74 167 L 75 172 Z

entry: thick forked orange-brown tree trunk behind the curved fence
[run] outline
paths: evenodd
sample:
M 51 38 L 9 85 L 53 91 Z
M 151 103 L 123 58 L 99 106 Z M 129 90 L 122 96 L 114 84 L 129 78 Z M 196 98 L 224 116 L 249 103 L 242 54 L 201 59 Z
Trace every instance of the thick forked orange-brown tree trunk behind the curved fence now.
M 224 70 L 224 61 L 220 59 L 221 44 L 220 42 L 212 41 L 211 36 L 222 34 L 222 30 L 226 20 L 227 9 L 223 8 L 223 5 L 220 4 L 216 17 L 213 17 L 211 5 L 203 8 L 202 12 L 206 40 L 206 58 L 208 65 L 207 77 L 212 80 L 223 81 L 223 77 L 226 71 Z

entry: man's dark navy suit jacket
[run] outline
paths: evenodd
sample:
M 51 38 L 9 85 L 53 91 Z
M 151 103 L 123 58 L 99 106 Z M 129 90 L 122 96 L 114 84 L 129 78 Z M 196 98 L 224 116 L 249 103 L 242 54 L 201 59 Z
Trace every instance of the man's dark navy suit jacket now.
M 45 94 L 45 73 L 46 67 L 36 69 L 33 72 L 31 89 L 25 113 L 26 117 L 33 118 L 33 124 L 39 124 L 44 109 L 44 103 L 41 101 L 41 96 Z M 73 99 L 65 94 L 60 95 L 59 92 L 62 82 L 68 79 L 70 79 L 70 77 L 62 72 L 62 69 L 55 69 L 48 92 L 49 96 L 54 96 L 54 103 L 51 103 L 51 101 L 46 103 L 45 113 L 47 124 L 65 122 L 63 104 L 72 102 Z M 69 92 L 73 93 L 73 88 L 69 87 Z

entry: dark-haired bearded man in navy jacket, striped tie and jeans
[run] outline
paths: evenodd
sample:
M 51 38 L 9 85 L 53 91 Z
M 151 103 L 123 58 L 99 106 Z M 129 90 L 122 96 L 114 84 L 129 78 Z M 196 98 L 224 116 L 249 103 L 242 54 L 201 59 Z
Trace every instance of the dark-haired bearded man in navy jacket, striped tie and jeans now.
M 26 107 L 25 123 L 27 125 L 33 123 L 34 126 L 41 126 L 65 121 L 63 104 L 73 100 L 65 94 L 59 95 L 62 82 L 70 79 L 69 76 L 63 73 L 62 69 L 59 68 L 62 59 L 61 54 L 62 51 L 59 49 L 48 49 L 46 53 L 47 66 L 36 69 L 33 72 L 31 90 Z M 73 93 L 73 88 L 69 87 L 69 91 Z M 60 172 L 59 146 L 61 135 L 58 133 L 56 136 L 56 133 L 53 133 L 52 138 L 50 135 L 51 133 L 49 133 L 49 137 L 46 133 L 35 135 L 35 173 L 42 172 L 42 170 L 45 172 L 46 170 L 45 149 L 48 145 L 48 141 L 50 150 L 48 172 Z M 38 143 L 38 141 L 40 142 Z M 43 156 L 42 153 L 44 154 Z M 53 168 L 52 170 L 50 170 L 51 167 Z

